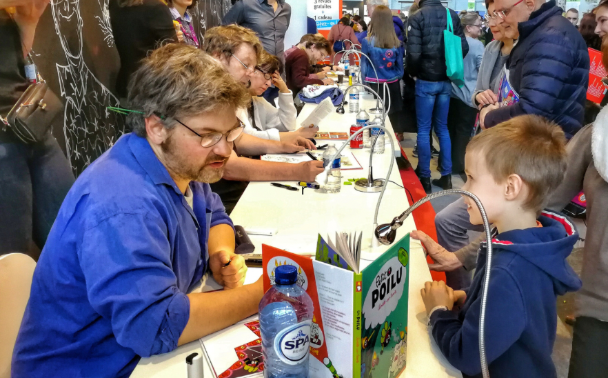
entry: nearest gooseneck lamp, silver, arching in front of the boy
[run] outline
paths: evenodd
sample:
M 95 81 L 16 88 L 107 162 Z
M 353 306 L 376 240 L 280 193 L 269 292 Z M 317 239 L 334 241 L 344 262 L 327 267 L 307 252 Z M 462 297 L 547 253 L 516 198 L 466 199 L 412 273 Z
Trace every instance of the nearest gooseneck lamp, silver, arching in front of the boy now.
M 376 228 L 376 231 L 374 232 L 374 234 L 376 236 L 376 239 L 380 243 L 383 243 L 385 246 L 388 246 L 395 241 L 397 228 L 400 228 L 401 226 L 403 226 L 403 221 L 405 221 L 405 219 L 410 214 L 412 214 L 412 212 L 414 210 L 416 210 L 416 208 L 418 208 L 418 206 L 420 206 L 423 203 L 430 201 L 432 199 L 436 199 L 437 197 L 442 197 L 445 195 L 454 195 L 454 194 L 465 195 L 467 197 L 471 197 L 471 199 L 473 199 L 473 201 L 475 201 L 475 204 L 477 205 L 477 207 L 479 208 L 479 212 L 481 213 L 481 219 L 483 220 L 483 228 L 485 230 L 485 239 L 486 239 L 486 244 L 487 244 L 487 261 L 486 261 L 486 266 L 485 266 L 485 276 L 484 276 L 484 280 L 483 280 L 483 291 L 481 294 L 481 310 L 480 310 L 480 317 L 479 317 L 479 359 L 481 362 L 481 372 L 483 374 L 483 377 L 489 378 L 489 370 L 487 368 L 487 356 L 485 354 L 484 325 L 485 325 L 485 309 L 486 309 L 486 305 L 487 305 L 487 287 L 488 287 L 488 283 L 489 283 L 489 279 L 490 279 L 490 271 L 492 270 L 492 235 L 490 235 L 489 222 L 487 220 L 487 214 L 485 212 L 485 208 L 483 208 L 483 205 L 482 205 L 481 201 L 478 199 L 478 197 L 476 197 L 476 195 L 474 195 L 472 192 L 467 192 L 466 190 L 460 190 L 460 189 L 443 190 L 441 192 L 436 192 L 431 195 L 427 195 L 427 197 L 424 197 L 423 199 L 420 199 L 419 201 L 414 203 L 412 206 L 409 206 L 409 208 L 407 208 L 407 210 L 405 210 L 403 213 L 401 213 L 401 215 L 399 215 L 398 217 L 395 217 L 391 223 L 386 223 L 386 224 L 382 224 L 382 225 L 378 226 Z M 376 209 L 376 211 L 377 211 L 377 209 Z

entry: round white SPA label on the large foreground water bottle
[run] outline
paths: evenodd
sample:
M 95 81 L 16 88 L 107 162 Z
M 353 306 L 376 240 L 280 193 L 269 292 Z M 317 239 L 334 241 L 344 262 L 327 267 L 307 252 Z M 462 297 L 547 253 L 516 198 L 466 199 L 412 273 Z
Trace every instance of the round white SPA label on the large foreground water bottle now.
M 285 364 L 297 365 L 310 351 L 310 320 L 278 332 L 274 338 L 276 356 Z

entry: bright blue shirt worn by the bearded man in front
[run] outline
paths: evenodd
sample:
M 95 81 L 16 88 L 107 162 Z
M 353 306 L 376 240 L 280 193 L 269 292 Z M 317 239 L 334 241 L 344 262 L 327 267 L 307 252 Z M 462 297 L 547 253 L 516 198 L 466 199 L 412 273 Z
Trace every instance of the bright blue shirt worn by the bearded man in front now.
M 145 138 L 121 137 L 65 197 L 34 272 L 13 377 L 128 377 L 170 352 L 211 227 L 232 226 L 207 183 L 190 208 Z

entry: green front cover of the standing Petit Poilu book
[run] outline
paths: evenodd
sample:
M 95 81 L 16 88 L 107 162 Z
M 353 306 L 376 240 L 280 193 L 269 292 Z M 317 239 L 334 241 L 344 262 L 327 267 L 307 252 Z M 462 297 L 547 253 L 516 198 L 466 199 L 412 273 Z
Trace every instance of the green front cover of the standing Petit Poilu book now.
M 409 234 L 363 270 L 361 378 L 394 378 L 405 369 Z M 355 342 L 356 344 L 356 342 Z

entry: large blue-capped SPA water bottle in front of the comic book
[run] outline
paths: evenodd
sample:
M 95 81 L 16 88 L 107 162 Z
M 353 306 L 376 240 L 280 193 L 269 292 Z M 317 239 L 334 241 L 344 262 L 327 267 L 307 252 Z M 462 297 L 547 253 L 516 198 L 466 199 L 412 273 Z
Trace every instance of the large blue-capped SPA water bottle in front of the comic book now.
M 277 266 L 275 285 L 260 302 L 265 378 L 308 378 L 314 305 L 297 280 L 295 266 Z

